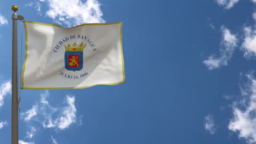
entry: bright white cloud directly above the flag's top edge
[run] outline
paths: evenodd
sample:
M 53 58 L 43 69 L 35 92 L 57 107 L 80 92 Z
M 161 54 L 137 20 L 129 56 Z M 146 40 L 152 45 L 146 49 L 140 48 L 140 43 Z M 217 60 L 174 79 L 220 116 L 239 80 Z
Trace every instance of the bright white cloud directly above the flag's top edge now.
M 75 26 L 82 23 L 104 23 L 98 0 L 40 0 L 49 6 L 46 16 L 58 24 Z M 56 7 L 57 6 L 57 7 Z

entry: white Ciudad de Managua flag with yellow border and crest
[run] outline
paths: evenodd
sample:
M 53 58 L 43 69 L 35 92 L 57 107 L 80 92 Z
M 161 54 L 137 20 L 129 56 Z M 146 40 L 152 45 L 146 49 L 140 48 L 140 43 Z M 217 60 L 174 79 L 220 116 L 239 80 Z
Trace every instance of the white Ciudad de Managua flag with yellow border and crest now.
M 23 89 L 88 88 L 125 82 L 122 22 L 72 28 L 25 21 Z

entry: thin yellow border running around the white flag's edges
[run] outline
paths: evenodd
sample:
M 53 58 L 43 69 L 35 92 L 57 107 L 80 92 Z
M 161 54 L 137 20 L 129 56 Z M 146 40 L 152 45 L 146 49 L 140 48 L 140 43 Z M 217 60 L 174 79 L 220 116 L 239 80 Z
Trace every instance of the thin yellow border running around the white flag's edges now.
M 21 88 L 22 89 L 34 89 L 34 90 L 45 90 L 45 89 L 68 89 L 68 88 L 89 88 L 95 85 L 89 85 L 89 86 L 85 86 L 85 87 L 59 87 L 59 88 L 27 88 L 24 87 L 24 83 L 23 83 L 23 78 L 24 78 L 24 72 L 25 72 L 25 65 L 26 65 L 26 58 L 27 58 L 27 27 L 26 27 L 26 23 L 34 23 L 34 24 L 39 24 L 39 25 L 44 25 L 44 26 L 58 26 L 63 28 L 62 26 L 56 25 L 56 24 L 47 24 L 47 23 L 38 23 L 38 22 L 32 22 L 32 21 L 25 21 L 24 22 L 24 27 L 25 27 L 25 60 L 24 60 L 24 64 L 23 64 L 23 70 L 22 70 L 22 77 L 21 77 Z M 86 23 L 86 24 L 82 24 L 79 26 L 102 26 L 102 25 L 112 25 L 112 24 L 121 24 L 121 29 L 120 29 L 120 47 L 121 47 L 121 59 L 122 59 L 122 69 L 123 69 L 123 82 L 118 82 L 118 83 L 102 83 L 102 84 L 96 84 L 96 85 L 119 85 L 125 82 L 125 64 L 124 64 L 124 56 L 123 56 L 123 47 L 122 47 L 122 22 L 115 22 L 115 23 Z M 78 26 L 74 26 L 74 27 L 78 27 Z M 70 27 L 70 28 L 74 28 L 74 27 Z M 65 29 L 70 29 L 70 28 L 65 28 Z

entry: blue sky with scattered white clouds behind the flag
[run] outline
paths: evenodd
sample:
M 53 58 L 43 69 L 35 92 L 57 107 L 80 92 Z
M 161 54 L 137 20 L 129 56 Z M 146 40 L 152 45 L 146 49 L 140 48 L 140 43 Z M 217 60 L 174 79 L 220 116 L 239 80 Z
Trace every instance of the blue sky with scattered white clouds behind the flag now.
M 256 143 L 256 0 L 0 1 L 1 143 L 11 141 L 13 4 L 63 27 L 122 21 L 126 76 L 21 90 L 20 144 Z

